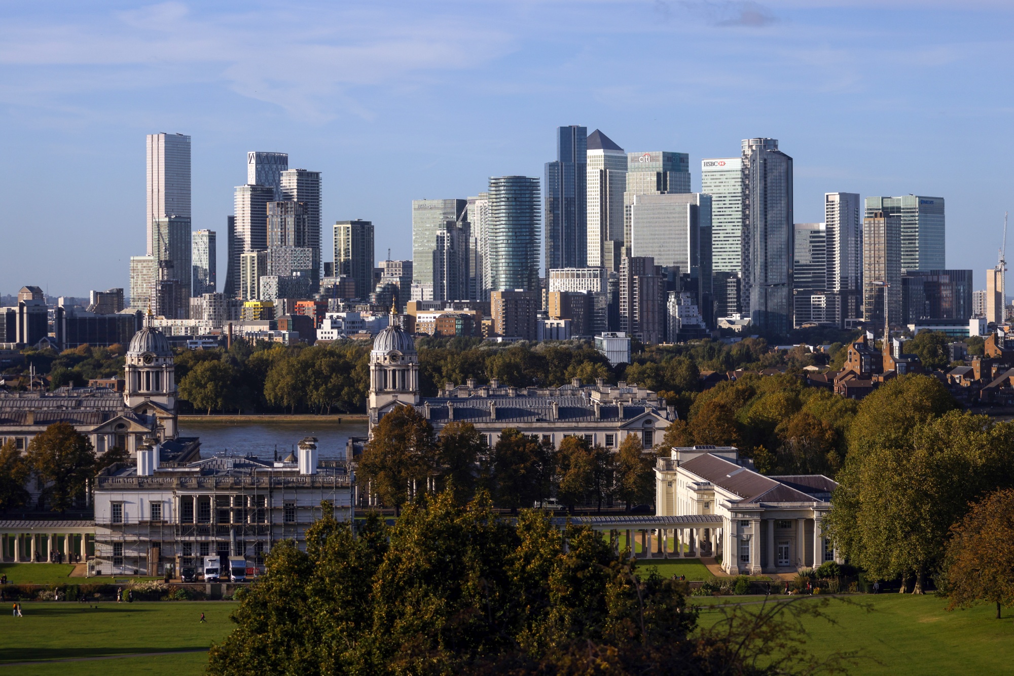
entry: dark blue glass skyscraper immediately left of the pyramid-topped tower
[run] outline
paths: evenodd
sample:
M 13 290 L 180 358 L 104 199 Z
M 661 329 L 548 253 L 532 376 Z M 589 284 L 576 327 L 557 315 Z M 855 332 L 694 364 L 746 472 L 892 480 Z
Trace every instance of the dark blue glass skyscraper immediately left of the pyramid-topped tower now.
M 558 127 L 557 159 L 546 163 L 547 271 L 587 265 L 587 166 L 588 129 Z

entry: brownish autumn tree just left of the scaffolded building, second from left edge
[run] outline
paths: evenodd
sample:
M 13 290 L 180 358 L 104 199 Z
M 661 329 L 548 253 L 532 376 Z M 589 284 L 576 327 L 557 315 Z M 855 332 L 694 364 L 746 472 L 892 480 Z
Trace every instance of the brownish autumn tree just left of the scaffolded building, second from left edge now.
M 95 475 L 91 442 L 68 423 L 54 423 L 28 444 L 28 463 L 46 483 L 40 498 L 54 512 L 65 512 L 83 500 Z

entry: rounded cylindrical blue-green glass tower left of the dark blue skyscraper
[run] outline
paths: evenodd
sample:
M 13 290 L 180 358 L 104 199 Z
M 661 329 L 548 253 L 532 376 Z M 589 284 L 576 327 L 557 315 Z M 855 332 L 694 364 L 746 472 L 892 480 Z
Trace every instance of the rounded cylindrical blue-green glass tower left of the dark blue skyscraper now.
M 538 178 L 490 178 L 490 289 L 538 291 Z

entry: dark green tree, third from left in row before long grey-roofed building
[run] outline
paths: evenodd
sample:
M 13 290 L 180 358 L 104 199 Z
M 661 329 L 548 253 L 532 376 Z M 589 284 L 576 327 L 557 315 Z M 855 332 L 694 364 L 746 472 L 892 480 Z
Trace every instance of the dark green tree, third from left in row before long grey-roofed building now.
M 514 428 L 503 430 L 493 447 L 492 465 L 499 507 L 516 513 L 549 497 L 553 454 L 531 437 Z

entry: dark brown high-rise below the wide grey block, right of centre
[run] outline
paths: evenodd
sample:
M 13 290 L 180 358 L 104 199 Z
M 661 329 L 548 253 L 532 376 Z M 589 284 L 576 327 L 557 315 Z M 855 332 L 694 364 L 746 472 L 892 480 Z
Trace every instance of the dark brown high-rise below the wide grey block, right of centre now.
M 645 345 L 662 342 L 664 285 L 651 257 L 625 256 L 620 264 L 620 327 Z

